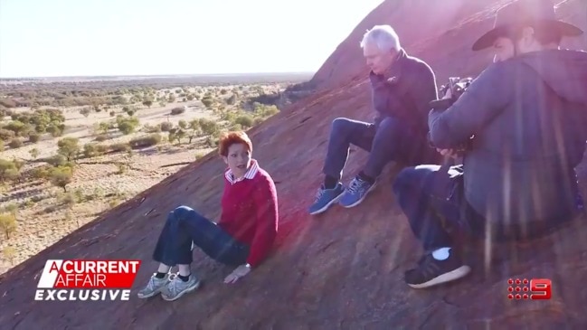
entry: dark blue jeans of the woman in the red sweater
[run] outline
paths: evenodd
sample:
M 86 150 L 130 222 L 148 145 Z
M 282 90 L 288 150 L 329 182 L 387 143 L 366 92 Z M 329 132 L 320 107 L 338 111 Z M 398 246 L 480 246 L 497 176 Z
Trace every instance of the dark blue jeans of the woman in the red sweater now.
M 187 206 L 179 206 L 167 215 L 153 259 L 172 267 L 190 264 L 192 242 L 210 258 L 227 265 L 242 265 L 249 256 L 249 247 L 232 239 L 214 222 Z

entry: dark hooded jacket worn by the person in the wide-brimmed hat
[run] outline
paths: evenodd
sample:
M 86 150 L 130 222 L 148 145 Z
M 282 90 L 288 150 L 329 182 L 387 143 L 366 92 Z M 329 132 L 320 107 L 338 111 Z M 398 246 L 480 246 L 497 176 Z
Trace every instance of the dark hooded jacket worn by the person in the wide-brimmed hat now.
M 587 140 L 587 52 L 543 51 L 497 62 L 444 112 L 431 141 L 463 158 L 465 196 L 488 221 L 560 219 L 576 209 L 574 167 Z

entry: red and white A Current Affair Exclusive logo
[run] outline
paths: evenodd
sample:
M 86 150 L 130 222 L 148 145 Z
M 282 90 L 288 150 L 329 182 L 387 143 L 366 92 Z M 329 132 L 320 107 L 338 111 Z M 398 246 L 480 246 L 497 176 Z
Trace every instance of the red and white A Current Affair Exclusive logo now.
M 140 260 L 47 260 L 34 300 L 128 300 L 140 264 Z

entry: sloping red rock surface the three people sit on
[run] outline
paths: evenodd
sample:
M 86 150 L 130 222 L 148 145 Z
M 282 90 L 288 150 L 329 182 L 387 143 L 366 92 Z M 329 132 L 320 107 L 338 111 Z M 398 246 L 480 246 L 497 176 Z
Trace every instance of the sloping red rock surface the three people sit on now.
M 437 4 L 438 3 L 438 4 Z M 440 3 L 444 5 L 439 5 Z M 474 4 L 473 4 L 474 3 Z M 166 212 L 186 203 L 214 219 L 222 193 L 222 161 L 215 155 L 188 165 L 136 198 L 103 214 L 0 278 L 3 329 L 585 329 L 587 328 L 587 222 L 580 218 L 542 240 L 478 246 L 474 272 L 459 283 L 430 290 L 407 288 L 403 270 L 420 255 L 390 192 L 393 169 L 355 209 L 306 213 L 317 185 L 332 119 L 370 118 L 366 71 L 358 42 L 367 27 L 393 24 L 409 52 L 430 61 L 439 81 L 476 74 L 489 60 L 469 45 L 492 24 L 504 1 L 385 1 L 358 25 L 317 72 L 320 90 L 251 129 L 254 156 L 279 192 L 279 249 L 236 285 L 224 268 L 196 252 L 204 287 L 168 303 L 36 302 L 46 259 L 143 259 L 135 284 L 155 270 L 150 261 Z M 453 8 L 451 10 L 447 8 Z M 582 0 L 563 2 L 561 16 L 587 27 Z M 585 48 L 585 39 L 574 47 Z M 346 179 L 365 160 L 351 155 Z M 582 166 L 582 178 L 585 175 Z M 583 179 L 584 180 L 584 179 Z M 491 251 L 491 253 L 489 253 Z M 490 255 L 490 258 L 485 258 Z M 552 278 L 549 301 L 510 301 L 507 278 Z

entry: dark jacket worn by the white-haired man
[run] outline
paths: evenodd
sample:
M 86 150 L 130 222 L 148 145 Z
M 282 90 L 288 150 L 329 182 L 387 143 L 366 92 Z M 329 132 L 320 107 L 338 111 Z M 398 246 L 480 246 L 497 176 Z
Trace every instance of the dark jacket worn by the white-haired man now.
M 437 99 L 436 77 L 431 67 L 403 50 L 398 53 L 392 67 L 383 75 L 371 72 L 375 124 L 385 117 L 405 121 L 406 126 L 428 133 L 429 103 Z

